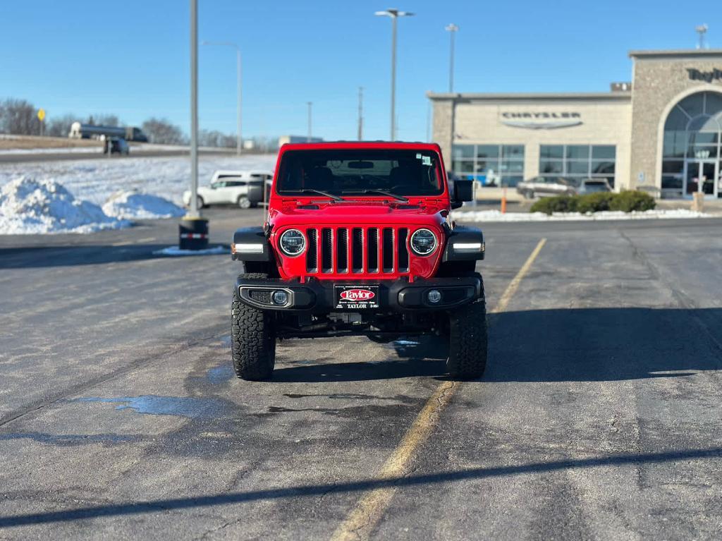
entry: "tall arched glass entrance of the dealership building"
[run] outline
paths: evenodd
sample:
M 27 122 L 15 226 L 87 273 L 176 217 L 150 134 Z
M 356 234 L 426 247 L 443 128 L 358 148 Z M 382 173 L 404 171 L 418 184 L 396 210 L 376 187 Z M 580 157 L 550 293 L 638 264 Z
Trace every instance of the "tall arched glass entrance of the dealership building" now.
M 722 94 L 696 92 L 679 101 L 664 123 L 662 189 L 722 198 Z

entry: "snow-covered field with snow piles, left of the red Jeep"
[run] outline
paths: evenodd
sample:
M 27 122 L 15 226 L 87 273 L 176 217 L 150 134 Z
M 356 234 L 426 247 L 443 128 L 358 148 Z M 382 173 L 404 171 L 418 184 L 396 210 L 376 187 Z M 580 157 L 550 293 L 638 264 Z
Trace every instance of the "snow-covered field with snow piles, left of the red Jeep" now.
M 199 183 L 217 169 L 268 169 L 275 155 L 207 156 Z M 129 220 L 183 215 L 188 157 L 68 160 L 0 166 L 0 234 L 90 233 Z M 102 207 L 102 208 L 101 208 Z

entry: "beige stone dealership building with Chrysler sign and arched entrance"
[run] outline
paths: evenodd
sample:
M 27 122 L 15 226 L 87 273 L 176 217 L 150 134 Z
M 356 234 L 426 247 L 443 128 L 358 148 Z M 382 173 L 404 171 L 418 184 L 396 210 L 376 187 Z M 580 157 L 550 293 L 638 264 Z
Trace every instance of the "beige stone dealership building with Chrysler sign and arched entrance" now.
M 449 169 L 485 186 L 607 178 L 615 190 L 722 198 L 722 50 L 632 51 L 609 92 L 430 93 Z

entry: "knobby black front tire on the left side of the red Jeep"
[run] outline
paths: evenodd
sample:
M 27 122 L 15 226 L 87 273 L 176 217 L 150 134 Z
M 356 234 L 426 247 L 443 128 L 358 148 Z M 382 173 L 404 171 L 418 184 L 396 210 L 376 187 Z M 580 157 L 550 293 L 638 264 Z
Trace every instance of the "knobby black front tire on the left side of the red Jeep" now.
M 244 278 L 267 278 L 267 274 L 241 274 Z M 234 287 L 231 308 L 231 355 L 235 375 L 248 381 L 271 378 L 276 363 L 276 333 L 270 313 L 240 302 Z

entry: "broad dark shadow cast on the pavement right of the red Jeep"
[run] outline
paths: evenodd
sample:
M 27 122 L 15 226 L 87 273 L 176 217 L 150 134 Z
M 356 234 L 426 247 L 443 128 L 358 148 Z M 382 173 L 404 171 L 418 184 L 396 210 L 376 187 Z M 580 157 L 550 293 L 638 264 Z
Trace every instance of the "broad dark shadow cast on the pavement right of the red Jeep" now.
M 722 309 L 494 313 L 482 381 L 617 381 L 722 369 Z

